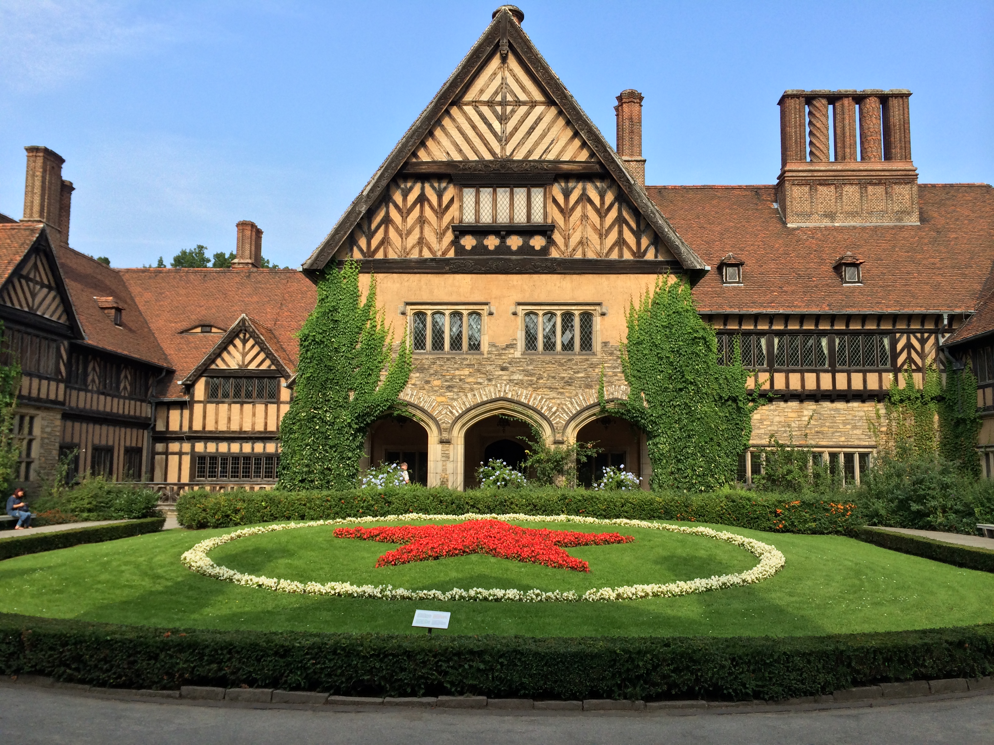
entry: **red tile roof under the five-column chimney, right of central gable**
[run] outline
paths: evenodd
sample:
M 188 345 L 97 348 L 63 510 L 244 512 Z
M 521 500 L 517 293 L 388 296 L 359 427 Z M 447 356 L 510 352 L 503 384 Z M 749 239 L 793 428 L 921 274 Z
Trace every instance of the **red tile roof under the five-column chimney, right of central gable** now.
M 960 313 L 977 306 L 994 259 L 994 189 L 921 184 L 919 225 L 787 227 L 772 186 L 646 187 L 709 265 L 745 260 L 743 286 L 709 272 L 694 288 L 702 313 Z M 832 264 L 864 260 L 863 284 Z

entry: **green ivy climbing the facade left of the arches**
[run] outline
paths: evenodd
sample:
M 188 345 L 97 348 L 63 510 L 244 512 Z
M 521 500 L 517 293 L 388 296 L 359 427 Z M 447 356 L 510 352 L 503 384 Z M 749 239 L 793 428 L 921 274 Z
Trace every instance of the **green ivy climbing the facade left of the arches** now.
M 376 280 L 362 297 L 359 263 L 329 266 L 317 283 L 317 305 L 298 335 L 293 400 L 280 423 L 279 488 L 355 486 L 369 426 L 401 410 L 411 375 L 411 348 L 394 338 L 376 307 Z

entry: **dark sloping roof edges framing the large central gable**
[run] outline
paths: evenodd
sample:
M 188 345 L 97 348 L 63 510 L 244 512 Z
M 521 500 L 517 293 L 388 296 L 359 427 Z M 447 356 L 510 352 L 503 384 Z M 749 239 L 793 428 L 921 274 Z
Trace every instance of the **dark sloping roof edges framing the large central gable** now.
M 648 198 L 645 190 L 631 177 L 620 157 L 580 108 L 580 104 L 567 90 L 557 74 L 553 72 L 532 40 L 522 31 L 512 12 L 507 6 L 502 6 L 494 13 L 493 21 L 486 31 L 483 32 L 483 35 L 473 45 L 455 71 L 449 75 L 431 102 L 421 111 L 414 124 L 373 175 L 362 193 L 356 197 L 331 232 L 304 262 L 304 269 L 319 270 L 331 260 L 349 233 L 383 195 L 384 190 L 401 170 L 405 161 L 422 146 L 422 141 L 438 122 L 446 107 L 459 95 L 465 85 L 479 74 L 481 68 L 491 60 L 495 51 L 506 54 L 512 49 L 528 66 L 535 79 L 545 88 L 548 96 L 565 112 L 571 125 L 579 132 L 586 146 L 614 178 L 625 196 L 635 205 L 646 222 L 656 231 L 680 263 L 688 269 L 708 268 L 705 262 L 691 250 L 690 246 L 667 222 L 656 205 Z

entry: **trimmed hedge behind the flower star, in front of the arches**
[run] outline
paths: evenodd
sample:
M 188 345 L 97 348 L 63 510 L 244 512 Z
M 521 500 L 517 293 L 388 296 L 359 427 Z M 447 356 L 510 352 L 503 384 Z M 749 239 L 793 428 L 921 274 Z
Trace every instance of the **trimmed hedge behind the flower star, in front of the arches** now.
M 285 520 L 332 520 L 371 515 L 582 515 L 590 518 L 716 522 L 756 530 L 847 533 L 862 524 L 851 503 L 759 492 L 715 494 L 587 492 L 563 489 L 402 487 L 348 492 L 186 492 L 176 504 L 184 527 L 231 527 Z

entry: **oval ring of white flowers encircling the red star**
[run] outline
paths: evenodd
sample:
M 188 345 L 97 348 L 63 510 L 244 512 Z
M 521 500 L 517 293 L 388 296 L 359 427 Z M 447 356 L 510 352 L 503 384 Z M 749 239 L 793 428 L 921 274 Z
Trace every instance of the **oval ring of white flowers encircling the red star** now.
M 671 532 L 685 533 L 687 535 L 701 535 L 715 540 L 724 540 L 727 543 L 745 548 L 749 553 L 759 557 L 759 563 L 739 574 L 723 574 L 721 576 L 700 577 L 688 581 L 669 582 L 668 584 L 651 585 L 626 585 L 624 587 L 601 587 L 591 589 L 578 595 L 573 590 L 568 592 L 544 592 L 543 590 L 484 590 L 474 587 L 469 590 L 454 588 L 448 592 L 440 590 L 406 590 L 403 587 L 393 587 L 392 585 L 362 585 L 356 586 L 349 582 L 295 582 L 289 579 L 271 579 L 269 577 L 256 577 L 251 574 L 229 569 L 226 566 L 218 566 L 207 555 L 208 552 L 219 545 L 247 537 L 248 535 L 259 535 L 264 532 L 274 530 L 293 530 L 299 527 L 316 527 L 317 525 L 342 525 L 356 522 L 414 522 L 430 520 L 503 520 L 513 522 L 580 522 L 596 525 L 621 525 L 625 527 L 645 527 L 651 530 L 669 530 Z M 246 527 L 241 530 L 218 535 L 207 540 L 202 540 L 189 551 L 183 554 L 180 559 L 183 564 L 205 577 L 222 579 L 226 582 L 235 582 L 246 587 L 260 587 L 275 592 L 289 592 L 298 595 L 326 595 L 330 597 L 348 598 L 376 598 L 380 600 L 469 600 L 469 601 L 504 601 L 521 603 L 562 603 L 576 601 L 602 602 L 613 600 L 641 600 L 643 598 L 672 598 L 680 595 L 690 595 L 698 592 L 709 592 L 711 590 L 722 590 L 726 587 L 738 587 L 741 585 L 754 584 L 764 579 L 772 577 L 783 568 L 786 558 L 775 546 L 762 543 L 745 535 L 737 535 L 725 530 L 713 530 L 710 527 L 685 527 L 683 525 L 671 525 L 665 522 L 645 522 L 641 520 L 625 520 L 623 518 L 615 520 L 601 520 L 598 518 L 585 518 L 574 515 L 478 515 L 476 513 L 466 513 L 465 515 L 422 515 L 412 513 L 409 515 L 388 515 L 377 518 L 355 518 L 339 520 L 319 520 L 312 522 L 280 522 L 272 525 L 262 525 L 259 527 Z

